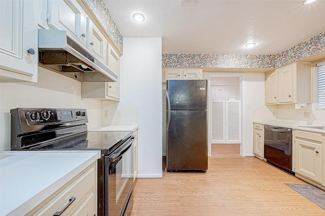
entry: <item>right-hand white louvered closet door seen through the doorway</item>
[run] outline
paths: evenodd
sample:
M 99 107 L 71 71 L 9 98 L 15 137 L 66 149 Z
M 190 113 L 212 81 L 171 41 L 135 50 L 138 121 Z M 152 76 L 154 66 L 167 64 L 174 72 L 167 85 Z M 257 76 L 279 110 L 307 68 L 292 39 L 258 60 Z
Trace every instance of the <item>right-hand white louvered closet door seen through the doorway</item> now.
M 241 100 L 225 102 L 226 138 L 225 143 L 241 143 Z

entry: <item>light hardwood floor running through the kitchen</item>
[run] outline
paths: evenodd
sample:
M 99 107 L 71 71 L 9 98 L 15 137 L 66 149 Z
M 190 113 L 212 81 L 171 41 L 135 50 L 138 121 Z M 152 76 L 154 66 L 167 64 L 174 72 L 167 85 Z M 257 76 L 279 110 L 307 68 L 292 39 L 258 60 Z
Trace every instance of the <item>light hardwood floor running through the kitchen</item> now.
M 163 178 L 138 178 L 132 215 L 325 215 L 285 185 L 305 182 L 241 157 L 238 145 L 212 146 L 206 173 L 163 171 Z

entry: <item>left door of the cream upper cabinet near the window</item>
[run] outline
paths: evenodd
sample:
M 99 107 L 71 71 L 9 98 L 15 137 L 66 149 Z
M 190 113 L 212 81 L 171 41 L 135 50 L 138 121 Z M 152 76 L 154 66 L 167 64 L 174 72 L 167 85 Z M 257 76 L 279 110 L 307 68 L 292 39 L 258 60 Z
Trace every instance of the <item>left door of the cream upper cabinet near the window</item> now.
M 277 71 L 272 74 L 266 75 L 266 102 L 267 103 L 277 103 L 278 102 L 278 76 Z

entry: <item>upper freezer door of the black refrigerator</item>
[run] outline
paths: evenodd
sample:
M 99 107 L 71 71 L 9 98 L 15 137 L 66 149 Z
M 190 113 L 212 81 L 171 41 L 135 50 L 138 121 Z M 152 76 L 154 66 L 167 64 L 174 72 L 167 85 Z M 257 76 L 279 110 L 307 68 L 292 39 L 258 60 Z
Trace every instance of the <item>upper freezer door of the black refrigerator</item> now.
M 207 80 L 168 80 L 168 110 L 207 110 Z

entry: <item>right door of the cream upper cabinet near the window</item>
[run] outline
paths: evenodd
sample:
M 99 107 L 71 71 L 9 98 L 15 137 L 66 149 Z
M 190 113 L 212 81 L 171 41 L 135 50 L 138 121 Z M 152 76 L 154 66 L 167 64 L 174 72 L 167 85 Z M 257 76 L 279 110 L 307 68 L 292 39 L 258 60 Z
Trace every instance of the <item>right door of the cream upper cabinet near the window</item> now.
M 293 102 L 293 66 L 287 66 L 278 71 L 279 102 Z

